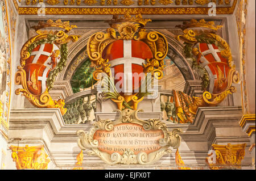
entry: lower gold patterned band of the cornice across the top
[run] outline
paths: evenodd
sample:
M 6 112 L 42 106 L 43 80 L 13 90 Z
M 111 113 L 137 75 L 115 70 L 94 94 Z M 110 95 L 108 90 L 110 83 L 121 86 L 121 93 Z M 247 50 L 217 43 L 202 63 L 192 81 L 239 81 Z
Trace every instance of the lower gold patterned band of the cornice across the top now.
M 15 0 L 14 0 L 15 1 Z M 88 0 L 85 0 L 89 3 Z M 92 4 L 92 0 L 89 4 Z M 144 1 L 145 3 L 146 1 Z M 154 1 L 152 1 L 154 2 Z M 113 5 L 117 5 L 118 1 L 114 0 Z M 179 1 L 175 1 L 176 5 L 179 5 Z M 217 7 L 216 14 L 233 14 L 234 9 L 236 8 L 237 0 L 233 1 L 232 6 L 229 7 Z M 108 8 L 108 7 L 99 7 L 99 8 L 84 8 L 84 7 L 46 7 L 46 15 L 114 15 L 114 14 L 125 14 L 126 11 L 129 11 L 130 14 L 159 14 L 159 15 L 172 15 L 172 14 L 208 14 L 208 7 L 131 7 L 131 8 Z M 20 6 L 18 7 L 18 12 L 20 15 L 36 15 L 38 14 L 38 7 L 33 6 Z

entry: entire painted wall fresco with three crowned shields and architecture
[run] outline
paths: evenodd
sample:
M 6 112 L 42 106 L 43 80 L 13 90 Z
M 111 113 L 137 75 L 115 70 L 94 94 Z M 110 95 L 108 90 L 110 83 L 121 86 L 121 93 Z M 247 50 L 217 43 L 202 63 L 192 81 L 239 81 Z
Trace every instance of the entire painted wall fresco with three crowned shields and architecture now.
M 1 168 L 255 169 L 241 1 L 1 0 Z

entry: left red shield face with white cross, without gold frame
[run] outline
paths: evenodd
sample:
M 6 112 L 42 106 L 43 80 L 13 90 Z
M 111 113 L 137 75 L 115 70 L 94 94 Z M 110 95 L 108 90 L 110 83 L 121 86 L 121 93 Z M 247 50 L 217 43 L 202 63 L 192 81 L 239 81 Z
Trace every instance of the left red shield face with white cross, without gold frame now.
M 49 72 L 60 60 L 60 50 L 55 44 L 38 45 L 27 58 L 24 70 L 26 71 L 28 90 L 34 95 L 46 91 L 46 81 Z

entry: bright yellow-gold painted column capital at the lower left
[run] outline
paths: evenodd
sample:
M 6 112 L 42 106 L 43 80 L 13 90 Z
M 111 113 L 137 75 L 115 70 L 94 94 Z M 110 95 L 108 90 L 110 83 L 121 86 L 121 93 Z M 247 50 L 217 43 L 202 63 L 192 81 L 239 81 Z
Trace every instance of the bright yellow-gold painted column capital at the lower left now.
M 44 146 L 10 146 L 11 157 L 13 161 L 16 163 L 16 169 L 34 169 L 34 170 L 47 170 L 48 163 L 50 159 L 48 159 L 48 155 L 46 151 L 44 151 Z

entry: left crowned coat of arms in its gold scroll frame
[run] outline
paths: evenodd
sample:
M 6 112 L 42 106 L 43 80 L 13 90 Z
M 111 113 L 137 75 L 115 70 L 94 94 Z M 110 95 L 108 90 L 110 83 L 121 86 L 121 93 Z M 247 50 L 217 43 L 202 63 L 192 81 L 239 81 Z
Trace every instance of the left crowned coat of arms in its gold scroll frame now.
M 65 31 L 47 31 L 43 28 L 58 27 Z M 38 35 L 31 37 L 20 50 L 20 66 L 15 74 L 16 85 L 23 89 L 16 89 L 15 94 L 24 96 L 36 107 L 59 108 L 64 115 L 64 100 L 52 100 L 48 91 L 53 87 L 56 75 L 64 68 L 67 60 L 67 43 L 77 41 L 79 36 L 67 33 L 75 28 L 69 22 L 49 19 L 39 22 L 33 27 Z

